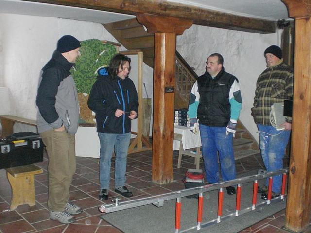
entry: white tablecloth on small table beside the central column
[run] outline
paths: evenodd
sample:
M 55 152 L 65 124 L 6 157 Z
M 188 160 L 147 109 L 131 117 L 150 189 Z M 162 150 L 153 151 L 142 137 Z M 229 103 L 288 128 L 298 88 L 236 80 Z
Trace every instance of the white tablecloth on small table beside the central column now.
M 182 135 L 182 143 L 184 150 L 201 147 L 200 131 L 198 134 L 194 134 L 190 131 L 190 127 L 185 126 L 174 126 L 174 133 L 179 133 Z M 173 150 L 179 150 L 179 141 L 174 140 Z

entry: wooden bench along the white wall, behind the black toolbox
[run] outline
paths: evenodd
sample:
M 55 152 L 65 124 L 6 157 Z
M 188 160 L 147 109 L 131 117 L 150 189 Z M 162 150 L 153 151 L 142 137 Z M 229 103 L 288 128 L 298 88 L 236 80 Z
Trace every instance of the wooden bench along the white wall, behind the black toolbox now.
M 2 125 L 2 137 L 13 134 L 13 126 L 16 122 L 20 124 L 37 126 L 37 122 L 35 120 L 11 115 L 0 115 L 0 121 Z

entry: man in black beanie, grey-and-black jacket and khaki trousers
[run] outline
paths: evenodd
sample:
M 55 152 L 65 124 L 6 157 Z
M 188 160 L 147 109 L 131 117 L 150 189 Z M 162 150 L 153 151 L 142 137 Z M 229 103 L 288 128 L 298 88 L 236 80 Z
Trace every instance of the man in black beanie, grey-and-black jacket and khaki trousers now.
M 57 42 L 51 60 L 42 68 L 36 97 L 38 133 L 46 146 L 49 165 L 50 218 L 63 224 L 82 209 L 69 200 L 69 187 L 76 170 L 75 133 L 78 129 L 77 89 L 70 74 L 80 52 L 80 42 L 71 35 Z

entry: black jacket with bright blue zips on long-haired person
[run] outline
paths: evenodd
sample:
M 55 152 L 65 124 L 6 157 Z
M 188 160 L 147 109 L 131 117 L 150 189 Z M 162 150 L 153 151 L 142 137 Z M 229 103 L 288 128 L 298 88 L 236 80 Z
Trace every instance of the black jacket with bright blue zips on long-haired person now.
M 105 68 L 103 68 L 105 69 Z M 134 110 L 138 117 L 138 95 L 133 81 L 126 77 L 124 80 L 109 74 L 101 75 L 95 81 L 88 97 L 87 105 L 95 112 L 97 132 L 100 133 L 129 133 L 131 119 L 129 112 Z M 115 116 L 117 109 L 125 114 Z

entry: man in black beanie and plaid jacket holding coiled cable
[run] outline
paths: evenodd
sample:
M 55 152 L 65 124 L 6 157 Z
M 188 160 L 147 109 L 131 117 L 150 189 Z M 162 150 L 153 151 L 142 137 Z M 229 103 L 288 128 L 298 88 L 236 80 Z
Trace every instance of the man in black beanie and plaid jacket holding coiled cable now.
M 254 107 L 252 115 L 259 129 L 259 146 L 261 156 L 267 171 L 283 168 L 285 147 L 292 129 L 292 118 L 285 117 L 286 121 L 280 125 L 278 131 L 270 123 L 271 106 L 274 103 L 283 103 L 293 98 L 293 70 L 283 62 L 282 50 L 276 45 L 269 46 L 264 51 L 267 69 L 257 80 Z M 280 195 L 281 176 L 273 177 L 272 198 Z M 261 199 L 267 199 L 268 179 L 265 186 L 259 187 Z

